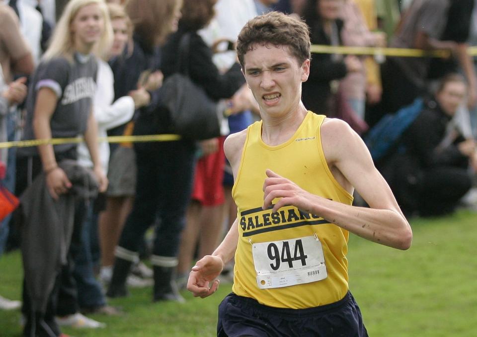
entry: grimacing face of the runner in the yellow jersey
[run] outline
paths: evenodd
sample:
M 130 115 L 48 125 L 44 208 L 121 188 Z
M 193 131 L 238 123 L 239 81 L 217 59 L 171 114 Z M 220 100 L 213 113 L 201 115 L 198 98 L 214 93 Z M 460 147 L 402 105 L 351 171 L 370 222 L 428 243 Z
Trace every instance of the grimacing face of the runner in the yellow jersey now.
M 301 84 L 310 73 L 310 60 L 299 64 L 288 46 L 255 44 L 244 55 L 243 63 L 243 74 L 260 113 L 279 117 L 298 108 Z

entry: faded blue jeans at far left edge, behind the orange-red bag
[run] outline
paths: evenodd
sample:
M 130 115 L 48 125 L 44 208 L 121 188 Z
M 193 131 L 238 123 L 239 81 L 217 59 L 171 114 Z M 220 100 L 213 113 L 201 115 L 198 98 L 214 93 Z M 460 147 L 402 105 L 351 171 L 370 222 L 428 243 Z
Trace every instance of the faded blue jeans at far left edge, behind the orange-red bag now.
M 8 141 L 16 140 L 16 116 L 12 113 L 7 115 L 7 133 Z M 3 186 L 5 186 L 10 192 L 15 192 L 15 170 L 16 170 L 16 148 L 8 149 L 8 161 L 6 164 L 6 175 L 5 178 L 1 181 Z M 3 253 L 6 245 L 6 239 L 8 238 L 9 225 L 11 214 L 6 216 L 0 222 L 0 256 Z

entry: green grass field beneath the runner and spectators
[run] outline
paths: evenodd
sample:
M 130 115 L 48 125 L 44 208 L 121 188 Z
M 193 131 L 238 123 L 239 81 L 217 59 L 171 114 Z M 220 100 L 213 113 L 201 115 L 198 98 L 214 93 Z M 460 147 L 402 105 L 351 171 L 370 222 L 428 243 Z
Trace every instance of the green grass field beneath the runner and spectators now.
M 477 336 L 477 214 L 460 211 L 439 219 L 412 219 L 414 239 L 405 252 L 352 236 L 349 242 L 350 289 L 373 337 Z M 0 294 L 19 299 L 18 253 L 0 259 Z M 101 330 L 64 332 L 79 336 L 215 336 L 217 306 L 231 290 L 186 304 L 152 303 L 151 289 L 135 289 L 120 317 L 92 316 L 107 323 Z M 0 336 L 18 337 L 20 313 L 0 311 Z

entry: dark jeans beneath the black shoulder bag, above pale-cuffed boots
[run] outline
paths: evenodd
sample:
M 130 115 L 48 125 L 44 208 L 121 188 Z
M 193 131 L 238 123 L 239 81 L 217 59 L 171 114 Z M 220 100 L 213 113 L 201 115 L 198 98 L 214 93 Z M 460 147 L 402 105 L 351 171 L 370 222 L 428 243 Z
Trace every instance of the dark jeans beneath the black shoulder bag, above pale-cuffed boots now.
M 156 224 L 153 255 L 177 255 L 192 189 L 194 153 L 194 144 L 185 140 L 159 142 L 154 151 L 136 151 L 136 197 L 120 247 L 138 252 L 144 233 Z

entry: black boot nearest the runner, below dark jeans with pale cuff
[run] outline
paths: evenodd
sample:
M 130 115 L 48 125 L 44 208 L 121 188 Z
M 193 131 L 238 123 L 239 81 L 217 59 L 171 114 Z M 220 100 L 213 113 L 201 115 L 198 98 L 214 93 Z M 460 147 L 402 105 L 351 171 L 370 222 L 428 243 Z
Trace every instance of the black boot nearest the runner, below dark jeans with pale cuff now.
M 154 297 L 153 301 L 175 301 L 184 303 L 185 299 L 179 293 L 173 279 L 173 267 L 154 266 Z

